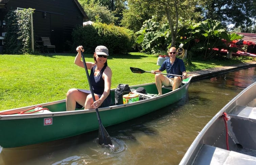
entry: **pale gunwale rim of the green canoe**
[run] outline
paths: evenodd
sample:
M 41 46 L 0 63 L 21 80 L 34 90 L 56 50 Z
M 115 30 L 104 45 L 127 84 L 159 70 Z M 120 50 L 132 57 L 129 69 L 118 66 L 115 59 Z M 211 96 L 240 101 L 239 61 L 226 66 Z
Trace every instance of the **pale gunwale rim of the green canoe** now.
M 176 90 L 171 90 L 170 92 L 167 92 L 167 93 L 162 94 L 160 96 L 157 96 L 157 97 L 154 97 L 154 98 L 148 98 L 148 99 L 145 99 L 145 100 L 140 100 L 140 101 L 133 102 L 133 103 L 128 103 L 128 104 L 112 105 L 112 106 L 109 106 L 109 107 L 98 108 L 98 111 L 101 112 L 101 111 L 119 109 L 119 108 L 122 108 L 122 107 L 135 106 L 135 105 L 138 105 L 138 104 L 144 104 L 144 103 L 151 102 L 151 101 L 154 101 L 154 100 L 158 100 L 158 99 L 161 99 L 161 98 L 164 98 L 164 97 L 168 97 L 169 95 L 171 95 L 173 93 L 176 93 L 179 90 L 185 88 L 187 85 L 189 85 L 190 80 L 191 80 L 191 78 L 189 78 L 188 81 L 183 81 L 183 83 L 182 83 L 183 85 L 181 87 L 177 88 Z M 155 84 L 155 83 L 146 83 L 146 84 L 133 85 L 133 86 L 130 86 L 130 88 L 142 87 L 142 86 L 153 85 L 153 84 Z M 115 89 L 111 89 L 111 90 L 115 90 Z M 35 106 L 49 106 L 49 105 L 54 105 L 54 104 L 63 103 L 63 102 L 66 102 L 66 99 L 59 100 L 59 101 L 48 102 L 48 103 L 43 103 L 43 104 L 32 105 L 32 106 L 27 106 L 27 107 L 3 110 L 3 111 L 0 111 L 0 112 L 15 112 L 15 111 L 26 110 L 28 108 L 32 108 L 32 107 L 35 107 Z M 95 112 L 96 112 L 95 109 L 88 109 L 88 110 L 82 109 L 82 110 L 50 112 L 50 113 L 30 113 L 30 114 L 20 114 L 20 115 L 11 114 L 11 115 L 0 115 L 0 120 L 77 115 L 77 114 L 95 113 Z

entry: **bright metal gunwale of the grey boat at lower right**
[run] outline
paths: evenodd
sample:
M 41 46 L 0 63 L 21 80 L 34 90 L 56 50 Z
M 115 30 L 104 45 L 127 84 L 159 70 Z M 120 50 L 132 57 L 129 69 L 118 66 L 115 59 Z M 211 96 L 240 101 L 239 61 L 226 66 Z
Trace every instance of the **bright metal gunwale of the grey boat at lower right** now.
M 196 136 L 196 138 L 194 139 L 194 141 L 191 143 L 191 145 L 189 146 L 189 148 L 187 149 L 185 155 L 183 156 L 182 160 L 180 161 L 179 165 L 187 165 L 189 161 L 191 161 L 193 164 L 193 162 L 196 159 L 196 155 L 200 152 L 200 148 L 202 148 L 202 146 L 204 145 L 204 143 L 202 142 L 202 139 L 204 138 L 205 134 L 207 133 L 207 131 L 210 129 L 210 127 L 213 125 L 213 123 L 219 119 L 223 112 L 227 111 L 227 109 L 233 109 L 234 107 L 231 107 L 232 105 L 235 106 L 236 101 L 239 97 L 242 97 L 246 91 L 248 91 L 250 88 L 252 88 L 253 86 L 256 86 L 256 82 L 252 83 L 251 85 L 249 85 L 248 87 L 246 87 L 245 89 L 243 89 L 240 93 L 238 93 L 231 101 L 229 101 L 220 111 L 218 111 L 213 117 L 212 119 L 204 126 L 204 128 L 200 131 L 200 133 Z M 199 145 L 200 143 L 202 143 L 202 145 Z M 196 148 L 199 149 L 196 150 Z M 196 153 L 195 153 L 196 152 Z M 191 155 L 194 155 L 195 157 L 191 158 Z

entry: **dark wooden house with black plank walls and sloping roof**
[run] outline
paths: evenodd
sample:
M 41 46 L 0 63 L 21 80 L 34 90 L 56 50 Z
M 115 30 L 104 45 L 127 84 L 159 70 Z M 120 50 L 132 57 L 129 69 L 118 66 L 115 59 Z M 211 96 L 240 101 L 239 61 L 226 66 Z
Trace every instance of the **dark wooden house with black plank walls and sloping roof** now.
M 3 47 L 5 15 L 11 9 L 33 8 L 35 40 L 49 37 L 56 52 L 70 50 L 71 33 L 75 26 L 83 26 L 88 17 L 77 0 L 0 0 L 0 46 Z

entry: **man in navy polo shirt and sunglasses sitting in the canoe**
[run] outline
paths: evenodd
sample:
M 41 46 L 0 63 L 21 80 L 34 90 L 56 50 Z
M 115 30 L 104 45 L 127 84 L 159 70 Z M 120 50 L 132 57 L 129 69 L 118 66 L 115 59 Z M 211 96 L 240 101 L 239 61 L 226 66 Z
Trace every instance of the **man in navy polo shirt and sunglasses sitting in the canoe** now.
M 176 57 L 176 48 L 169 48 L 168 55 L 170 58 L 166 59 L 158 70 L 152 70 L 151 73 L 156 74 L 166 70 L 167 74 L 181 75 L 181 77 L 173 75 L 164 76 L 163 74 L 156 74 L 155 81 L 158 90 L 158 95 L 162 95 L 162 85 L 172 86 L 172 90 L 175 90 L 181 86 L 182 80 L 187 78 L 187 72 L 183 60 Z

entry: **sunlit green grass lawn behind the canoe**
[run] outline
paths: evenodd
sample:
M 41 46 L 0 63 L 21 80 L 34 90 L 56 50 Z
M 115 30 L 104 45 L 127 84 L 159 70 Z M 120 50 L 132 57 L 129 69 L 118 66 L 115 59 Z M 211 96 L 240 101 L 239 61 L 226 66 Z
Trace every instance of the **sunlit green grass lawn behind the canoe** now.
M 50 55 L 0 55 L 0 110 L 52 102 L 66 98 L 70 88 L 89 89 L 84 68 L 75 65 L 74 54 Z M 85 54 L 86 61 L 93 62 L 92 54 Z M 236 58 L 226 61 L 192 61 L 187 72 L 252 61 L 252 58 Z M 110 55 L 108 65 L 112 69 L 112 85 L 144 84 L 154 82 L 150 73 L 135 74 L 130 67 L 145 71 L 159 68 L 157 56 L 144 53 Z

